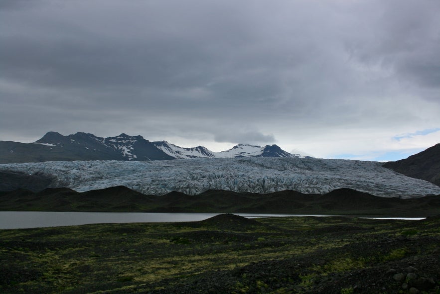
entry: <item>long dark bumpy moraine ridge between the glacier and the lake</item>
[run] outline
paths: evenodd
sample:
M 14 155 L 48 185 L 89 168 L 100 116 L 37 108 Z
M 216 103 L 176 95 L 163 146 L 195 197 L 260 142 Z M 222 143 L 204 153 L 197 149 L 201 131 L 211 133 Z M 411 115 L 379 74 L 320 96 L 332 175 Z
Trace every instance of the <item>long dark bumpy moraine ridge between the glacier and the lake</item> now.
M 49 188 L 40 192 L 0 192 L 1 211 L 89 211 L 89 212 L 186 212 L 343 214 L 426 217 L 440 214 L 440 195 L 415 199 L 383 198 L 338 189 L 330 193 L 302 194 L 280 191 L 270 194 L 208 190 L 199 195 L 171 192 L 144 195 L 119 186 L 76 192 Z

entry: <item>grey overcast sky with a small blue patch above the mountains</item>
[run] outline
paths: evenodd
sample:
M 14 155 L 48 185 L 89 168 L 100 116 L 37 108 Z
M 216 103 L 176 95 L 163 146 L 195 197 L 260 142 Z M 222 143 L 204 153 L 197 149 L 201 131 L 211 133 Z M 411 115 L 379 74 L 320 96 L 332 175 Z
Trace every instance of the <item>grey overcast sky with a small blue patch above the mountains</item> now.
M 439 0 L 1 0 L 0 140 L 398 160 L 440 143 Z

